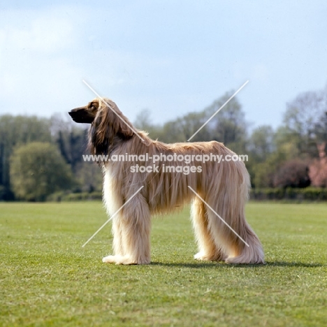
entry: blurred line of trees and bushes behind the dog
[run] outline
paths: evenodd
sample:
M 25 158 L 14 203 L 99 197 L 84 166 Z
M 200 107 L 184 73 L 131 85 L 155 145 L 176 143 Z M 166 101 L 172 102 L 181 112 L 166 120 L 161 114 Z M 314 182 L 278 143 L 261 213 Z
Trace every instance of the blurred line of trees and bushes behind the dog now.
M 165 143 L 185 142 L 229 99 L 164 124 L 152 124 L 150 110 L 134 122 Z M 246 162 L 252 187 L 327 187 L 327 89 L 304 92 L 286 104 L 281 126 L 249 129 L 233 98 L 192 142 L 217 140 Z M 50 194 L 101 191 L 101 170 L 84 162 L 87 129 L 68 117 L 0 116 L 0 200 L 45 201 Z

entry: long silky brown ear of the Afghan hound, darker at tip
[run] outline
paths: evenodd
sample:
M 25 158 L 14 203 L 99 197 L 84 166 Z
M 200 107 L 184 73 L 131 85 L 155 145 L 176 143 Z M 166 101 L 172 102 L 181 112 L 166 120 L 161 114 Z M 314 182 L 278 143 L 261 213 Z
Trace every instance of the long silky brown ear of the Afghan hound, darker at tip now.
M 109 105 L 109 106 L 108 106 Z M 106 99 L 99 108 L 89 131 L 89 148 L 92 154 L 108 154 L 117 140 L 129 140 L 132 126 L 116 104 Z

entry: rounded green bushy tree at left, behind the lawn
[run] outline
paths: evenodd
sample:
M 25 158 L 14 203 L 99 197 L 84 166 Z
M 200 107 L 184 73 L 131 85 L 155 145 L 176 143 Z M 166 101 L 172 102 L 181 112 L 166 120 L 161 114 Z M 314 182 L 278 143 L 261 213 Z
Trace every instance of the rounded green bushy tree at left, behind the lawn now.
M 71 169 L 57 147 L 40 142 L 15 148 L 10 157 L 10 181 L 16 198 L 27 201 L 45 201 L 73 184 Z

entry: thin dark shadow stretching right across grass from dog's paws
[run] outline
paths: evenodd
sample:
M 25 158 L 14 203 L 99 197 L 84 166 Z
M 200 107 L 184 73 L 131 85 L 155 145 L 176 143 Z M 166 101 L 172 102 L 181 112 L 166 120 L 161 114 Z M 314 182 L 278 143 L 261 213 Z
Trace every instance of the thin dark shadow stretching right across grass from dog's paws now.
M 166 267 L 183 267 L 183 268 L 266 268 L 266 267 L 303 267 L 303 268 L 319 268 L 324 267 L 323 263 L 305 263 L 305 262 L 287 262 L 287 261 L 267 261 L 265 264 L 231 264 L 224 262 L 199 262 L 199 263 L 167 263 L 167 262 L 152 262 L 152 266 Z

